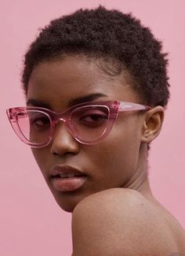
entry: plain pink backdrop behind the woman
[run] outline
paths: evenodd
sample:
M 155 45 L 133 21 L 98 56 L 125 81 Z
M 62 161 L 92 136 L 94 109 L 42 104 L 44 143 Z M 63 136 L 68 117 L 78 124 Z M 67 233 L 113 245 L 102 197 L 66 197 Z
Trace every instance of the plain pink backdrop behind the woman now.
M 0 2 L 1 172 L 0 255 L 71 255 L 71 213 L 50 194 L 29 147 L 14 135 L 5 109 L 24 106 L 20 90 L 21 61 L 38 28 L 80 7 L 132 12 L 169 52 L 171 100 L 161 135 L 150 153 L 151 188 L 185 228 L 185 4 L 183 0 L 40 0 Z

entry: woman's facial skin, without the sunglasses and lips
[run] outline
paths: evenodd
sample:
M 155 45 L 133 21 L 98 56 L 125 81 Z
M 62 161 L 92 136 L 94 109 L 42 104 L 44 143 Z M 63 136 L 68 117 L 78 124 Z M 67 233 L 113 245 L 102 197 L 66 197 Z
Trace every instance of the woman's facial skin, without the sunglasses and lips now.
M 82 57 L 40 63 L 28 83 L 27 100 L 43 102 L 56 113 L 65 111 L 69 102 L 87 95 L 96 95 L 90 97 L 92 101 L 138 102 L 136 93 L 123 76 L 107 75 L 95 61 Z M 65 124 L 57 125 L 47 147 L 31 149 L 63 210 L 72 212 L 78 202 L 98 191 L 132 184 L 140 168 L 142 124 L 143 117 L 139 113 L 121 112 L 107 138 L 93 145 L 78 143 Z M 75 191 L 60 191 L 53 186 L 49 173 L 54 165 L 70 165 L 85 173 L 87 179 Z

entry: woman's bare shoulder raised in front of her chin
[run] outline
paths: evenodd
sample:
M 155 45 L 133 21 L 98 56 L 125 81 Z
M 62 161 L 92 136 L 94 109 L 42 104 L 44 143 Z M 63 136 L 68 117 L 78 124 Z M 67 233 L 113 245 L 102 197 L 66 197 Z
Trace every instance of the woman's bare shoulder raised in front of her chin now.
M 84 198 L 72 214 L 73 255 L 185 254 L 177 227 L 139 192 L 111 188 Z

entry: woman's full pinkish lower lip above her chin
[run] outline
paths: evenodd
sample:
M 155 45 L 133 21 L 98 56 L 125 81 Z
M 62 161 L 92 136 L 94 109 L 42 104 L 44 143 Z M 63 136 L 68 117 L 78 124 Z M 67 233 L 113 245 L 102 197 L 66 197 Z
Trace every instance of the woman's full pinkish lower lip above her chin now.
M 60 178 L 54 177 L 53 187 L 57 191 L 75 191 L 85 184 L 85 180 L 87 180 L 87 176 L 74 176 L 69 178 Z

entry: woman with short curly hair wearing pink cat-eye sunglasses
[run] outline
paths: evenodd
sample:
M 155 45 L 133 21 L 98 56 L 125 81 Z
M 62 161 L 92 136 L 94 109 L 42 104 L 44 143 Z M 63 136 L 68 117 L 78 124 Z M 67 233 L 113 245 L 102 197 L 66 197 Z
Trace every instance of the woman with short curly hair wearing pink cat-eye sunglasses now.
M 25 54 L 27 106 L 7 113 L 72 213 L 73 256 L 185 254 L 184 230 L 147 177 L 167 65 L 149 28 L 102 6 L 51 21 Z

